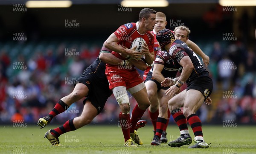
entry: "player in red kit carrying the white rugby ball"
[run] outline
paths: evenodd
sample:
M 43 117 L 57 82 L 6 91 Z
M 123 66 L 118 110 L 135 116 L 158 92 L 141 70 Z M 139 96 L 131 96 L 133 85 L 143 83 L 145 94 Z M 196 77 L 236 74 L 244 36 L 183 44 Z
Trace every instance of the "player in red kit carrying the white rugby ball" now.
M 141 54 L 145 55 L 145 62 L 151 65 L 154 61 L 154 36 L 150 31 L 154 29 L 156 24 L 156 11 L 150 8 L 144 8 L 140 11 L 139 21 L 121 25 L 113 34 L 105 41 L 104 46 L 113 50 L 112 54 L 119 59 L 125 60 L 119 53 L 131 47 L 132 42 L 137 37 L 142 37 L 145 40 L 145 46 Z M 126 48 L 120 47 L 124 46 Z M 117 53 L 118 52 L 118 53 Z M 119 114 L 119 122 L 122 127 L 122 132 L 125 139 L 125 146 L 142 145 L 143 142 L 138 137 L 135 126 L 143 116 L 145 110 L 150 105 L 147 90 L 143 79 L 140 77 L 137 70 L 132 67 L 118 67 L 106 62 L 105 74 L 109 82 L 109 88 L 121 108 Z M 134 96 L 137 105 L 134 107 L 130 118 L 130 104 L 127 90 Z M 134 140 L 134 141 L 133 141 Z

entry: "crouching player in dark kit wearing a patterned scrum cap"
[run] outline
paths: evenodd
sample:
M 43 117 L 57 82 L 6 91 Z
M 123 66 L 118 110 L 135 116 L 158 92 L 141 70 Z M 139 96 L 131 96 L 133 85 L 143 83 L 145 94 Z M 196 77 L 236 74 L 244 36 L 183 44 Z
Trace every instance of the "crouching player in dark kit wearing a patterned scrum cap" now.
M 173 82 L 171 78 L 166 78 L 161 83 L 163 87 L 171 86 L 165 92 L 166 95 L 172 97 L 168 102 L 169 109 L 183 106 L 183 114 L 194 132 L 196 141 L 196 144 L 189 146 L 189 148 L 208 148 L 209 145 L 204 142 L 201 120 L 195 112 L 204 102 L 211 104 L 209 95 L 212 92 L 213 84 L 209 72 L 204 68 L 193 50 L 185 42 L 175 39 L 170 30 L 165 29 L 157 33 L 157 41 L 162 50 L 168 50 L 170 57 L 174 60 L 175 67 L 182 67 L 182 72 L 175 85 L 171 84 Z M 187 89 L 177 94 L 185 81 Z

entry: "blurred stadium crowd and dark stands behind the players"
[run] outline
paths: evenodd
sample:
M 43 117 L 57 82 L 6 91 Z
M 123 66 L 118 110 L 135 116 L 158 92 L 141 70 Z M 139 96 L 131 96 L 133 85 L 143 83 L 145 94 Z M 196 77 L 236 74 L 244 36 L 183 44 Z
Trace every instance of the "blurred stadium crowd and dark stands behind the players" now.
M 235 123 L 255 124 L 256 8 L 236 7 L 236 11 L 230 12 L 223 11 L 223 6 L 218 4 L 178 6 L 184 6 L 185 11 L 178 11 L 172 5 L 154 9 L 166 14 L 166 28 L 175 28 L 170 25 L 174 19 L 189 27 L 192 31 L 189 39 L 210 57 L 207 70 L 214 81 L 214 89 L 210 96 L 212 105 L 204 104 L 197 113 L 202 122 L 221 124 L 223 120 L 234 120 Z M 67 15 L 62 14 L 63 8 L 45 12 L 28 8 L 26 12 L 14 13 L 12 7 L 0 6 L 0 123 L 20 119 L 34 124 L 73 90 L 74 81 L 97 58 L 104 40 L 119 25 L 137 22 L 142 9 L 118 12 L 117 4 L 80 5 L 66 10 L 70 13 Z M 193 13 L 196 8 L 203 9 Z M 58 17 L 63 19 L 61 23 L 52 24 Z M 65 19 L 76 20 L 80 25 L 65 27 Z M 13 36 L 18 35 L 23 40 L 14 40 Z M 133 108 L 136 101 L 131 95 L 129 98 Z M 63 123 L 79 116 L 82 101 L 74 103 L 53 121 Z M 112 95 L 93 123 L 116 124 L 119 112 Z M 143 119 L 150 121 L 147 112 Z M 172 117 L 170 119 L 173 123 Z

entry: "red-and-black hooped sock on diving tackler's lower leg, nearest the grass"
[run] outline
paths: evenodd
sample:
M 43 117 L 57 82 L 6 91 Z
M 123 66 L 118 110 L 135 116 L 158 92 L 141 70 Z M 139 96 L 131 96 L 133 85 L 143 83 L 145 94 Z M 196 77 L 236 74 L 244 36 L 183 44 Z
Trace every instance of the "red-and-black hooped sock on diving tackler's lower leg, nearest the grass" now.
M 71 120 L 67 120 L 66 123 L 64 123 L 64 125 L 58 128 L 52 129 L 51 134 L 55 135 L 56 137 L 59 137 L 61 134 L 74 131 L 74 130 L 76 130 L 74 126 L 74 119 L 71 119 Z

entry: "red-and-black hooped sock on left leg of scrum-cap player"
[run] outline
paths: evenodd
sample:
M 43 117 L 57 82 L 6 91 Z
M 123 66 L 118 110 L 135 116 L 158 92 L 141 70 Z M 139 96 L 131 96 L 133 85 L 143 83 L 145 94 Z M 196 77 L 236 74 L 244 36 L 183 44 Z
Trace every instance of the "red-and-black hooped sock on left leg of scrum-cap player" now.
M 181 109 L 176 109 L 176 110 L 172 110 L 171 113 L 180 131 L 185 129 L 188 130 L 187 120 L 186 120 L 186 117 L 183 115 L 183 111 L 181 111 Z

